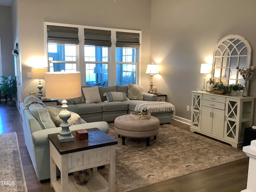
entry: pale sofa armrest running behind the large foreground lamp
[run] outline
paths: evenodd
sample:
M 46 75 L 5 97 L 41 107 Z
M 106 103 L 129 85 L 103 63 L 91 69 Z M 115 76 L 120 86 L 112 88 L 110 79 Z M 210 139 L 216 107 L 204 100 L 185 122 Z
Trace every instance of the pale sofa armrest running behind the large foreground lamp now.
M 77 124 L 77 125 L 72 125 L 69 128 L 71 131 L 78 130 L 78 129 L 98 128 L 105 133 L 108 133 L 108 130 L 109 130 L 108 123 L 104 121 Z M 36 131 L 32 133 L 32 142 L 34 145 L 49 144 L 48 134 L 59 133 L 61 129 L 62 129 L 61 127 L 56 127 L 56 128 L 43 129 L 43 130 Z

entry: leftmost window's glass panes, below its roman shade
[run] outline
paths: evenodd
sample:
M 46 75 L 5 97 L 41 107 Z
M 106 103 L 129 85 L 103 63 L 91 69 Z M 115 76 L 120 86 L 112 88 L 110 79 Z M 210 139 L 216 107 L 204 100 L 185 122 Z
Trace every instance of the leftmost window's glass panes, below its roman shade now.
M 48 43 L 48 62 L 50 72 L 76 71 L 76 45 Z

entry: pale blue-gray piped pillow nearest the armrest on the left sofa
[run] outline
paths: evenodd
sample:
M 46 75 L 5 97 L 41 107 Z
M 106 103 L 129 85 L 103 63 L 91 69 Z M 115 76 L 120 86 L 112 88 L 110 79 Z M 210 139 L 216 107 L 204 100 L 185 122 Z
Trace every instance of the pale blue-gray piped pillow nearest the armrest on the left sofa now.
M 31 104 L 28 110 L 36 118 L 43 129 L 49 129 L 56 127 L 48 110 L 38 103 Z

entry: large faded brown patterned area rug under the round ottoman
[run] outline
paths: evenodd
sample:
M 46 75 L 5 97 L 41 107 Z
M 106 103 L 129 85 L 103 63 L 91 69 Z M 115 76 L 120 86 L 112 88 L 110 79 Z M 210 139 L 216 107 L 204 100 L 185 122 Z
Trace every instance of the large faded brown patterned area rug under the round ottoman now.
M 170 124 L 160 125 L 156 140 L 150 138 L 122 139 L 110 123 L 109 135 L 118 140 L 116 145 L 116 192 L 183 176 L 214 166 L 246 158 L 242 150 L 204 136 L 182 130 Z M 98 170 L 107 180 L 107 166 Z

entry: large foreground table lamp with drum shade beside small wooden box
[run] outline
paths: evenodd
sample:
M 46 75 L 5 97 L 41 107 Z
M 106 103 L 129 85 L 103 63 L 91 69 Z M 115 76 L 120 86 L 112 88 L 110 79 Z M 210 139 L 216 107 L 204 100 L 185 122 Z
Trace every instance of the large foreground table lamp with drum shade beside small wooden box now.
M 68 111 L 68 98 L 81 96 L 81 75 L 80 72 L 47 72 L 45 73 L 46 97 L 49 99 L 62 99 L 62 110 L 59 117 L 63 120 L 60 124 L 62 130 L 58 135 L 59 142 L 74 141 L 68 119 L 71 114 Z

